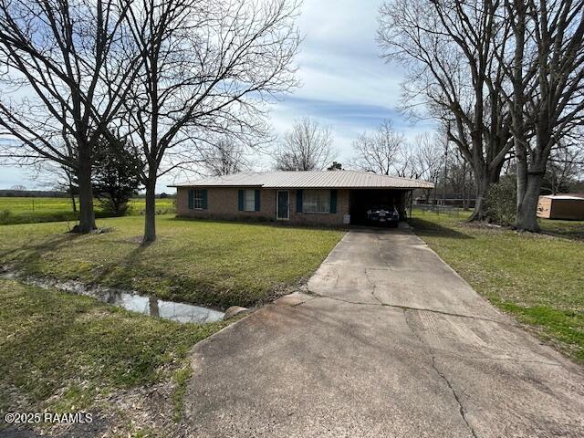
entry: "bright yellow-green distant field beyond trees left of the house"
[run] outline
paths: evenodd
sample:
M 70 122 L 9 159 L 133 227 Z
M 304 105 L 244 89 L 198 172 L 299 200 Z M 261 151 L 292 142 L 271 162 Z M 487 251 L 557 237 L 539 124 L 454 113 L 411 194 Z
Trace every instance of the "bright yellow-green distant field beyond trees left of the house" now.
M 104 217 L 96 202 L 96 215 Z M 130 214 L 143 214 L 145 200 L 134 198 L 130 201 Z M 174 199 L 156 200 L 159 214 L 173 213 Z M 75 221 L 71 200 L 68 198 L 0 197 L 0 224 L 34 224 L 37 222 Z

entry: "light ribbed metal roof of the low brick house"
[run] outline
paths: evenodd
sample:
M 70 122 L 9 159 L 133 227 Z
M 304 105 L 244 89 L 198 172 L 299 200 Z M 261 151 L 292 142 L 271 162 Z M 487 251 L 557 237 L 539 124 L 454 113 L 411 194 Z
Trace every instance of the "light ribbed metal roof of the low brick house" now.
M 432 189 L 433 183 L 360 171 L 290 171 L 212 176 L 169 187 Z

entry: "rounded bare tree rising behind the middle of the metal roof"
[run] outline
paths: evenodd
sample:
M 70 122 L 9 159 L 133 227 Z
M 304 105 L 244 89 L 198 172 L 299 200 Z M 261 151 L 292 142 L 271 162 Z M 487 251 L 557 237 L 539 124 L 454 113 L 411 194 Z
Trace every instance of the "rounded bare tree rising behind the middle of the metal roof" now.
M 330 127 L 310 118 L 296 120 L 274 156 L 279 171 L 322 171 L 336 158 Z

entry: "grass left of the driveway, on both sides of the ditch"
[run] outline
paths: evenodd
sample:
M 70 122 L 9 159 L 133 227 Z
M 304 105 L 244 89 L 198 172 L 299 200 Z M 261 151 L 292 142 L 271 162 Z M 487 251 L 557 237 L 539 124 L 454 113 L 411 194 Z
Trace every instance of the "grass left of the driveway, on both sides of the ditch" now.
M 0 226 L 0 266 L 202 306 L 249 307 L 307 278 L 343 235 L 161 215 L 158 241 L 142 246 L 142 217 L 98 225 L 106 232 L 71 235 L 67 223 Z M 6 278 L 0 299 L 0 412 L 93 412 L 91 430 L 78 436 L 171 436 L 191 374 L 189 350 L 229 323 L 145 317 Z

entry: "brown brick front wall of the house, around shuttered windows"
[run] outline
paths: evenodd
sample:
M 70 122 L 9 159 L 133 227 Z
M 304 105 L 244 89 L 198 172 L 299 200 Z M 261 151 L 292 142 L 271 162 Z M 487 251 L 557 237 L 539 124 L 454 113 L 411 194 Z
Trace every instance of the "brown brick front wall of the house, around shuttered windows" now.
M 231 220 L 268 220 L 276 221 L 276 189 L 260 190 L 260 211 L 240 212 L 238 210 L 238 188 L 209 187 L 207 191 L 207 208 L 205 210 L 189 209 L 189 188 L 178 187 L 176 193 L 176 210 L 183 217 L 204 217 Z M 288 224 L 322 224 L 342 225 L 343 216 L 349 214 L 349 190 L 337 190 L 337 213 L 297 213 L 296 190 L 290 189 L 290 219 L 278 221 Z

